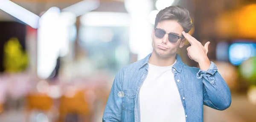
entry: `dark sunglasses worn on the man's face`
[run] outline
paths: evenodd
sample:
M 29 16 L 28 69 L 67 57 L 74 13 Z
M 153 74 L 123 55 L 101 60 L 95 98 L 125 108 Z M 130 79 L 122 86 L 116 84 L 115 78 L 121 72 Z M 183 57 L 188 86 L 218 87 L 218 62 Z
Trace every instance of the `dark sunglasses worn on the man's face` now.
M 166 31 L 158 29 L 158 28 L 154 28 L 154 30 L 155 30 L 155 36 L 159 39 L 162 39 L 163 36 L 167 33 Z M 183 36 L 180 37 L 173 33 L 167 33 L 167 34 L 168 34 L 168 40 L 171 43 L 176 43 L 180 38 L 184 38 Z

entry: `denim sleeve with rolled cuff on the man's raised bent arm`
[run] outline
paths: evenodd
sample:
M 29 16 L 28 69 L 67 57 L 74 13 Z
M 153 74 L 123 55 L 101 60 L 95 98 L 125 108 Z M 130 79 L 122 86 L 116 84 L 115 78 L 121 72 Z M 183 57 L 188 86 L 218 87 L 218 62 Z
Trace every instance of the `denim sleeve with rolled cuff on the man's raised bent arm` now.
M 216 65 L 211 62 L 207 71 L 199 70 L 197 78 L 204 83 L 204 105 L 217 110 L 225 110 L 231 104 L 230 89 L 225 80 L 217 71 Z

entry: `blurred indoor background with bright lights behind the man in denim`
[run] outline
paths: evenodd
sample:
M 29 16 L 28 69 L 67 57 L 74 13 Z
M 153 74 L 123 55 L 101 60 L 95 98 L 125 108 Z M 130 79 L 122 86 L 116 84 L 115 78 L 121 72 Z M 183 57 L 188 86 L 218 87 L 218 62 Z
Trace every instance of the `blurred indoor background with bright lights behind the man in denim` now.
M 151 53 L 171 5 L 190 11 L 232 93 L 204 121 L 256 122 L 255 0 L 0 0 L 0 122 L 102 122 L 116 73 Z M 198 67 L 188 46 L 178 53 Z

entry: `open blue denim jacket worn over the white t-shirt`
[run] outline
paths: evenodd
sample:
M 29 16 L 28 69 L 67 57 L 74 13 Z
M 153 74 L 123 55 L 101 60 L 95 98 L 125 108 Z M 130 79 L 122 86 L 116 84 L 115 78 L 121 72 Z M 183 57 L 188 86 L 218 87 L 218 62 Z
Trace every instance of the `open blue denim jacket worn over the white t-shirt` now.
M 139 93 L 148 75 L 150 56 L 151 54 L 118 72 L 108 97 L 103 122 L 140 122 Z M 230 89 L 213 62 L 207 71 L 203 71 L 187 66 L 179 55 L 176 55 L 176 59 L 172 72 L 180 93 L 186 122 L 203 122 L 203 105 L 217 110 L 225 110 L 230 106 Z

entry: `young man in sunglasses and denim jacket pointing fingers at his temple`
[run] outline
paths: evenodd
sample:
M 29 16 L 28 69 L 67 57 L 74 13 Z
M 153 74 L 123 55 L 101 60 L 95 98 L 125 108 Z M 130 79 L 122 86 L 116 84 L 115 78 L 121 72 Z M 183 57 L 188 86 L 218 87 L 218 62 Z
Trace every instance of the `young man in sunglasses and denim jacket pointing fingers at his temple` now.
M 207 58 L 209 42 L 203 46 L 188 34 L 189 11 L 169 6 L 159 11 L 154 27 L 153 52 L 118 72 L 103 122 L 203 122 L 203 105 L 227 109 L 230 89 Z M 200 69 L 176 54 L 185 39 L 191 44 L 188 56 Z

